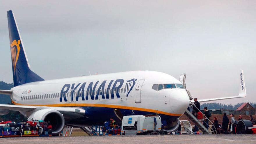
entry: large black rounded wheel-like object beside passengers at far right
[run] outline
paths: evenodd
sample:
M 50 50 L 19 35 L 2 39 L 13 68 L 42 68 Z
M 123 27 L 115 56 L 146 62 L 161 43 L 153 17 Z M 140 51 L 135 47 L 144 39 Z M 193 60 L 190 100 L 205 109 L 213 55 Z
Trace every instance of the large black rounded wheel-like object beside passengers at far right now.
M 237 123 L 237 134 L 252 134 L 252 130 L 248 129 L 253 124 L 250 120 L 239 120 Z

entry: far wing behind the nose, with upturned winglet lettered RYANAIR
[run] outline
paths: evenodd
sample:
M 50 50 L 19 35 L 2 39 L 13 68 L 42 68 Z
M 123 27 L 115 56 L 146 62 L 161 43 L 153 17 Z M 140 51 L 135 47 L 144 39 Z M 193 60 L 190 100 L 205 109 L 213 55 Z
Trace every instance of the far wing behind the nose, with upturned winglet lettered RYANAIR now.
M 217 97 L 217 98 L 210 98 L 210 99 L 198 99 L 198 102 L 211 102 L 211 101 L 216 101 L 216 100 L 246 97 L 246 88 L 245 88 L 245 82 L 244 82 L 244 78 L 243 78 L 243 70 L 240 70 L 239 80 L 240 80 L 239 95 L 232 96 L 232 97 Z M 194 100 L 191 100 L 190 102 L 193 103 Z

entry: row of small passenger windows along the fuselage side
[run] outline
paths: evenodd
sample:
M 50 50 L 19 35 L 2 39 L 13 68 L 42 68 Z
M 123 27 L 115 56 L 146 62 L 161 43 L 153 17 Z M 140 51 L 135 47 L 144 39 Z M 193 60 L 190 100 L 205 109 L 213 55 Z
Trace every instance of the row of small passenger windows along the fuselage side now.
M 94 92 L 94 93 L 93 93 Z M 109 93 L 110 92 L 110 93 Z M 99 95 L 103 95 L 103 94 L 116 94 L 116 93 L 125 93 L 126 92 L 126 88 L 118 88 L 118 89 L 108 89 L 108 90 L 100 90 L 99 91 Z M 89 91 L 86 91 L 86 95 L 95 95 L 96 93 L 98 93 L 98 90 L 89 90 Z M 81 96 L 83 94 L 82 91 L 80 91 L 80 93 L 78 92 L 74 92 L 74 97 L 76 97 L 77 95 L 79 94 L 79 96 Z M 71 92 L 70 93 L 62 93 L 62 95 L 66 96 L 66 97 L 70 97 L 71 96 Z M 54 94 L 43 94 L 43 95 L 30 95 L 30 96 L 22 96 L 20 98 L 21 101 L 24 101 L 24 100 L 34 100 L 34 99 L 50 99 L 50 98 L 59 98 L 60 96 L 60 93 L 54 93 Z

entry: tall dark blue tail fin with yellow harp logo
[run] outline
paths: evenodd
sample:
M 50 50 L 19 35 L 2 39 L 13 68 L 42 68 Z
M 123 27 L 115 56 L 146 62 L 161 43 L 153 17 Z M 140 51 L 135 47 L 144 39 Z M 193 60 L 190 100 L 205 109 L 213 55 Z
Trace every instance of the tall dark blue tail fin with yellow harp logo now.
M 11 58 L 13 67 L 13 83 L 19 86 L 24 83 L 43 81 L 40 76 L 30 70 L 30 65 L 19 34 L 19 29 L 12 10 L 7 11 Z

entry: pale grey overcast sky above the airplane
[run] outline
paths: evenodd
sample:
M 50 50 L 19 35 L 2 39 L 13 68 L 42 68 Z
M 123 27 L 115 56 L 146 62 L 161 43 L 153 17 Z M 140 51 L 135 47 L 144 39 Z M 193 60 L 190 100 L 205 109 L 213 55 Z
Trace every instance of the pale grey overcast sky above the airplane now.
M 132 70 L 164 72 L 198 99 L 236 96 L 239 70 L 256 102 L 256 1 L 3 1 L 0 81 L 13 82 L 6 11 L 42 78 Z

